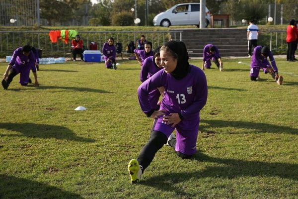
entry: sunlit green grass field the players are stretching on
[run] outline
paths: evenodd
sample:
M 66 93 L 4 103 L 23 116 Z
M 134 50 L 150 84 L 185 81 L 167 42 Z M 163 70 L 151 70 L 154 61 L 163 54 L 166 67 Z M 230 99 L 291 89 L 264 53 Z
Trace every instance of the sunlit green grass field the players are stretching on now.
M 262 72 L 251 82 L 248 58 L 223 61 L 224 72 L 205 70 L 197 154 L 182 160 L 162 147 L 137 185 L 127 164 L 152 125 L 137 98 L 137 61 L 119 60 L 116 71 L 41 65 L 38 88 L 16 76 L 0 89 L 0 198 L 297 199 L 298 63 L 277 59 L 279 86 Z

